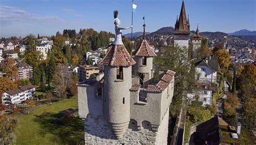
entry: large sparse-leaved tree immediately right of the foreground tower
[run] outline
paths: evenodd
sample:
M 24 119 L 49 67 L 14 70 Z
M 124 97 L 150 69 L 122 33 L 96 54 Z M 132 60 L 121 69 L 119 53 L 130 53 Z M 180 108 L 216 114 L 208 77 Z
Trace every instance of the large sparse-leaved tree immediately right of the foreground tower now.
M 172 116 L 178 116 L 181 108 L 182 99 L 186 98 L 187 93 L 197 95 L 198 88 L 195 84 L 194 76 L 196 71 L 193 61 L 187 61 L 188 52 L 185 49 L 174 46 L 166 46 L 161 49 L 158 56 L 154 58 L 156 75 L 159 70 L 172 70 L 178 77 L 174 82 L 174 94 L 171 103 L 170 113 Z M 158 78 L 156 78 L 158 79 Z

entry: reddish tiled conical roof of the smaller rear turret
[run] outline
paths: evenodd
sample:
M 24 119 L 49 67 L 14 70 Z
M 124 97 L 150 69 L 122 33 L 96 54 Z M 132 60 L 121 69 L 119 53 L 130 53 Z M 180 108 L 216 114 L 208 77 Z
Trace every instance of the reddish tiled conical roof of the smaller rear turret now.
M 147 40 L 143 39 L 142 43 L 138 47 L 137 50 L 133 52 L 134 56 L 140 56 L 140 57 L 156 57 L 156 53 L 154 53 L 151 48 L 149 43 L 147 43 Z

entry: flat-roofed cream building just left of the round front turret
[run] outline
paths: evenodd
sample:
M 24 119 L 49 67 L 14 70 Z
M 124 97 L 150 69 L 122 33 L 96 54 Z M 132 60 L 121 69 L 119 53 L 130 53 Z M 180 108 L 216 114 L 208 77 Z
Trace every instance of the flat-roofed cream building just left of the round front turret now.
M 99 73 L 97 66 L 91 66 L 91 65 L 80 65 L 78 67 L 78 79 L 80 81 L 84 81 L 89 79 L 91 74 L 97 74 Z

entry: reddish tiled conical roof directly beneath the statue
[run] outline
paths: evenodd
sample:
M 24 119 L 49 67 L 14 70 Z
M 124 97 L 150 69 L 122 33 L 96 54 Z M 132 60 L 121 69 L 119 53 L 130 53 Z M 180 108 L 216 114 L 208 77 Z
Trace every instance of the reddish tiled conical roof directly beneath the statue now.
M 124 45 L 112 45 L 106 56 L 100 61 L 100 65 L 106 66 L 132 66 L 136 62 L 126 50 Z

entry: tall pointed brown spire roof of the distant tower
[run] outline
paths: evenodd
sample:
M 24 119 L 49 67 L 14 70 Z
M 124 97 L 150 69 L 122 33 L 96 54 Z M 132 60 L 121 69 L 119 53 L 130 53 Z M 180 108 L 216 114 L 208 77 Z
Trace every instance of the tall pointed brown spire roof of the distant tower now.
M 185 3 L 184 0 L 181 5 L 178 25 L 174 31 L 174 34 L 190 34 L 190 31 L 187 26 L 187 18 L 186 18 L 186 11 L 185 11 Z

